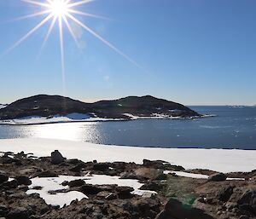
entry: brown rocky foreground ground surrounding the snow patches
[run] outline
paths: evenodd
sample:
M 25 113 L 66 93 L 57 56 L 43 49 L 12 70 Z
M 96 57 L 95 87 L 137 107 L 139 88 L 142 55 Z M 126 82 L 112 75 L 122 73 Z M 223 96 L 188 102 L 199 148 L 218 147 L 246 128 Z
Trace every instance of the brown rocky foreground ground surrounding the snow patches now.
M 208 175 L 195 179 L 166 174 L 169 170 Z M 119 176 L 143 183 L 142 190 L 156 193 L 133 194 L 133 187 L 92 185 L 83 180 L 61 182 L 65 189 L 48 193 L 78 191 L 89 199 L 73 200 L 63 207 L 47 205 L 38 193 L 27 194 L 35 177 Z M 227 180 L 227 177 L 240 178 Z M 241 178 L 243 180 L 241 180 Z M 103 182 L 104 183 L 104 182 Z M 101 183 L 102 184 L 102 183 Z M 33 190 L 42 187 L 32 187 Z M 222 174 L 211 170 L 184 170 L 164 161 L 143 160 L 143 164 L 113 162 L 84 163 L 66 159 L 55 151 L 51 157 L 3 153 L 0 157 L 0 218 L 156 218 L 156 219 L 247 219 L 256 218 L 256 170 Z

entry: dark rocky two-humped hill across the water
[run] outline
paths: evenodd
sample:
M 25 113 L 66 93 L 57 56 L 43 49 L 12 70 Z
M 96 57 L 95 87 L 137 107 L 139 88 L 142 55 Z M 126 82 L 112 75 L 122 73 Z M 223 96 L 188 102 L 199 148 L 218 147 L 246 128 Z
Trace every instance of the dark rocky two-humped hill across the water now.
M 113 101 L 85 103 L 60 95 L 35 95 L 20 99 L 0 109 L 0 119 L 30 116 L 52 117 L 69 113 L 86 113 L 98 118 L 180 117 L 193 118 L 201 115 L 182 104 L 155 98 L 151 95 L 128 96 Z M 129 114 L 129 115 L 128 115 Z

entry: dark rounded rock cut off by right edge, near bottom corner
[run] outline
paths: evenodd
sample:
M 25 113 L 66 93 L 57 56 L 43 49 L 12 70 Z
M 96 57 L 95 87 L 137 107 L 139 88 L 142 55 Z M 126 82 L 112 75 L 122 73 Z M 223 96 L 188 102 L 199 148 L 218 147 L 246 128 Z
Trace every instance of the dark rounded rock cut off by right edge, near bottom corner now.
M 237 204 L 241 210 L 246 210 L 256 215 L 256 190 L 247 190 L 241 195 L 241 198 L 237 201 Z

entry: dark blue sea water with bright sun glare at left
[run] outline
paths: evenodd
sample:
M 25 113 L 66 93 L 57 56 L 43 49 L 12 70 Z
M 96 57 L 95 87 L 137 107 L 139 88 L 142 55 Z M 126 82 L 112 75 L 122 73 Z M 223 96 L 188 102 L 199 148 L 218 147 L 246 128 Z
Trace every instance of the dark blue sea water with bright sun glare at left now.
M 203 119 L 0 125 L 0 138 L 43 137 L 141 147 L 256 149 L 256 107 L 191 107 Z

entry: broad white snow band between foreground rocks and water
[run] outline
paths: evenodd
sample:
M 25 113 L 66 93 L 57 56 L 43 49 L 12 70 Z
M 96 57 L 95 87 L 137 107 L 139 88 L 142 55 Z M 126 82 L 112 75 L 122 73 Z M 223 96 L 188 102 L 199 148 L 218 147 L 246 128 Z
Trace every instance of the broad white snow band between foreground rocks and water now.
M 143 159 L 161 159 L 185 169 L 208 169 L 221 172 L 251 171 L 256 169 L 256 150 L 179 149 L 152 147 L 121 147 L 88 142 L 49 139 L 0 140 L 0 151 L 34 153 L 49 156 L 58 149 L 67 158 L 99 162 L 125 161 L 142 164 Z

